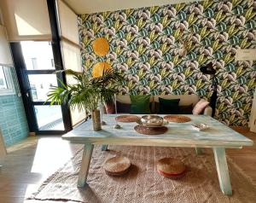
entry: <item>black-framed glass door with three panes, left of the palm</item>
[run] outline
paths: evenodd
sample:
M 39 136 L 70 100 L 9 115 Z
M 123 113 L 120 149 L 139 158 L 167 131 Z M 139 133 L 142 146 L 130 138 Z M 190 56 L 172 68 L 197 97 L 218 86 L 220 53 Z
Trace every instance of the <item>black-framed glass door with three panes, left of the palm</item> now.
M 55 67 L 51 43 L 28 41 L 11 44 L 11 47 L 15 61 L 21 63 L 18 73 L 22 78 L 20 82 L 30 128 L 38 134 L 61 134 L 70 130 L 66 125 L 70 120 L 63 119 L 67 107 L 50 106 L 48 101 L 50 88 L 60 84 L 55 74 L 58 68 Z M 16 53 L 17 49 L 20 49 L 19 53 Z M 17 61 L 17 54 L 20 61 Z

